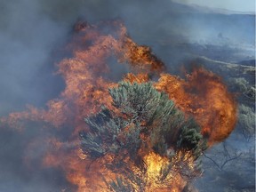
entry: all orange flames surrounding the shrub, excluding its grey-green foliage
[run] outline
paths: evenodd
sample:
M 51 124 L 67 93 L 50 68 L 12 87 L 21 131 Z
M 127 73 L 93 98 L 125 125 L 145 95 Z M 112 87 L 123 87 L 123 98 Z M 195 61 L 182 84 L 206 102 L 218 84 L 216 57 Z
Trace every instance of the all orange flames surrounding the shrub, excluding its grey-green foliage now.
M 101 105 L 113 108 L 108 88 L 116 86 L 116 83 L 108 76 L 111 70 L 109 58 L 130 64 L 131 70 L 136 72 L 137 75 L 129 73 L 124 76 L 126 81 L 145 83 L 150 81 L 149 75 L 160 76 L 154 83 L 156 89 L 166 92 L 187 116 L 196 118 L 203 127 L 202 134 L 209 139 L 209 145 L 227 138 L 235 127 L 236 102 L 219 76 L 204 68 L 195 68 L 186 79 L 164 73 L 164 63 L 150 48 L 134 43 L 120 21 L 99 25 L 77 24 L 76 34 L 67 50 L 72 52 L 72 57 L 58 64 L 58 74 L 63 76 L 66 84 L 60 97 L 48 101 L 46 109 L 29 107 L 28 111 L 12 113 L 1 121 L 19 130 L 25 129 L 29 121 L 49 124 L 44 126 L 46 130 L 51 127 L 68 129 L 68 141 L 63 141 L 61 135 L 52 135 L 47 141 L 49 146 L 43 165 L 59 167 L 65 172 L 68 182 L 76 185 L 78 192 L 109 191 L 102 175 L 109 180 L 115 177 L 102 166 L 111 156 L 91 162 L 82 153 L 78 136 L 78 132 L 87 130 L 84 117 L 99 112 Z M 181 191 L 187 181 L 174 170 L 181 172 L 184 164 L 194 170 L 194 159 L 181 151 L 176 152 L 173 158 L 173 175 L 168 176 L 168 185 L 172 186 L 172 191 Z M 162 188 L 157 184 L 156 171 L 159 172 L 161 164 L 168 163 L 165 157 L 151 151 L 143 159 L 148 166 L 146 191 L 170 191 L 170 187 Z

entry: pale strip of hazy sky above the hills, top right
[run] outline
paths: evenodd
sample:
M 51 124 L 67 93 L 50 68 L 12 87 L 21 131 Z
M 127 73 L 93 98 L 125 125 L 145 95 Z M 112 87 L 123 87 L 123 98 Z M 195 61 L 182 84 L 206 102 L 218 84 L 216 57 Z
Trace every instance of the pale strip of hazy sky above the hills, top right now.
M 184 4 L 198 4 L 236 12 L 255 12 L 255 0 L 173 0 Z

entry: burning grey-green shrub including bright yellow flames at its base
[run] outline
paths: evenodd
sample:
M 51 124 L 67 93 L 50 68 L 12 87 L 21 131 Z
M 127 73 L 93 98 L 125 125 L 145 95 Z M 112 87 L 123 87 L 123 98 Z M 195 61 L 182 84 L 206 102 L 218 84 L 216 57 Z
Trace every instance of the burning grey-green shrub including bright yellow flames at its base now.
M 100 113 L 85 118 L 90 131 L 80 133 L 86 156 L 108 156 L 103 166 L 116 174 L 116 181 L 104 179 L 108 188 L 167 190 L 177 187 L 177 175 L 188 180 L 199 173 L 194 162 L 206 147 L 200 127 L 193 118 L 186 119 L 167 94 L 150 83 L 125 82 L 109 93 L 115 109 L 103 106 Z M 148 161 L 150 156 L 157 161 Z M 152 163 L 159 163 L 158 168 Z

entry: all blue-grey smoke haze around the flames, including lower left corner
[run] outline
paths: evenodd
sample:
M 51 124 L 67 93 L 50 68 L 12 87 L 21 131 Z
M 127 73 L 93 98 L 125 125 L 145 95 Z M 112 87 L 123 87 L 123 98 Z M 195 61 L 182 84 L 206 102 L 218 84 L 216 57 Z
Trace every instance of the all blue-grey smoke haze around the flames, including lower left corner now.
M 4 0 L 0 2 L 0 12 L 0 116 L 25 110 L 27 104 L 45 108 L 47 100 L 60 94 L 65 84 L 54 75 L 55 63 L 63 58 L 62 51 L 76 20 L 124 20 L 133 40 L 150 45 L 171 71 L 174 66 L 180 68 L 188 54 L 195 54 L 193 47 L 181 53 L 182 44 L 243 44 L 248 51 L 237 60 L 251 60 L 254 55 L 254 27 L 244 27 L 251 26 L 251 16 L 243 20 L 237 16 L 241 28 L 228 15 L 221 23 L 212 14 L 209 23 L 203 14 L 194 15 L 195 10 L 171 1 Z M 193 17 L 188 17 L 188 12 Z M 177 49 L 172 44 L 181 45 Z M 25 155 L 40 162 L 47 148 L 43 139 L 49 133 L 37 126 L 31 124 L 34 130 L 22 133 L 7 128 L 0 131 L 1 192 L 72 189 L 60 171 L 38 171 L 33 168 L 37 163 L 30 168 L 24 164 Z M 28 140 L 38 134 L 42 135 L 42 146 L 36 146 L 36 152 L 29 151 Z

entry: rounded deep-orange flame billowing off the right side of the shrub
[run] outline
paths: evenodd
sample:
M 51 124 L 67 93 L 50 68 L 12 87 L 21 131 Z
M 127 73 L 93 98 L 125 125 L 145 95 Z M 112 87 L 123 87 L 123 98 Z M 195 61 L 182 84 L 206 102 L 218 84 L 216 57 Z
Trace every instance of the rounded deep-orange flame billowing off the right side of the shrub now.
M 187 79 L 162 74 L 155 84 L 159 91 L 167 92 L 170 99 L 188 116 L 194 116 L 203 127 L 208 144 L 228 137 L 236 124 L 236 101 L 220 76 L 195 68 Z

